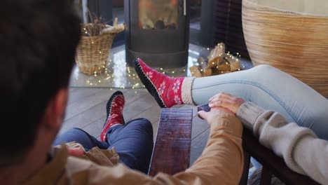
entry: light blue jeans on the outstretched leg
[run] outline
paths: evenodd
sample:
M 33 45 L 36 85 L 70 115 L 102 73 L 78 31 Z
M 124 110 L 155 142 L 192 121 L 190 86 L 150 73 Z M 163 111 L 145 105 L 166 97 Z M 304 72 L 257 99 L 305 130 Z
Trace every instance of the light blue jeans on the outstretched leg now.
M 210 97 L 222 92 L 278 111 L 287 121 L 328 139 L 328 100 L 285 72 L 259 65 L 245 71 L 196 78 L 191 90 L 196 104 L 206 104 Z

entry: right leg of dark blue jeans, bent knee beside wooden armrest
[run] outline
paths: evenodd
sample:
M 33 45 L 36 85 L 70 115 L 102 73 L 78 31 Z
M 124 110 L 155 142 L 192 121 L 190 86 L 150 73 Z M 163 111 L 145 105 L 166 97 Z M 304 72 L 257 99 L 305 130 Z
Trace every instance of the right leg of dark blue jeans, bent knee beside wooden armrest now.
M 108 130 L 109 148 L 114 147 L 120 160 L 128 167 L 147 173 L 153 151 L 153 127 L 145 118 Z

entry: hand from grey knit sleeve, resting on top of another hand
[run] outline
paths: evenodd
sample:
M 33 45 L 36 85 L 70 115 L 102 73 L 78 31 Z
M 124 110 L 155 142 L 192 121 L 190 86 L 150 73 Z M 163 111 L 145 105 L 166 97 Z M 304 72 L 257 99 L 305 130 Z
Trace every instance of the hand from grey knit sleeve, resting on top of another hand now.
M 210 98 L 208 106 L 211 109 L 214 107 L 224 107 L 236 114 L 240 105 L 244 102 L 240 97 L 235 97 L 227 93 L 219 93 Z

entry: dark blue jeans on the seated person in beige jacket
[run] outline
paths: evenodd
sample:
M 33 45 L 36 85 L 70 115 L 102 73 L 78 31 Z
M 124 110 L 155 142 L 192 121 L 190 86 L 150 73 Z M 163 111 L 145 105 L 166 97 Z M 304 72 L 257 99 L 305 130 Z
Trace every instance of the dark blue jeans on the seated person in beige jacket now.
M 147 173 L 153 151 L 153 127 L 145 118 L 116 125 L 107 131 L 107 141 L 100 142 L 80 128 L 72 128 L 57 136 L 53 145 L 78 142 L 88 151 L 95 146 L 100 149 L 115 148 L 121 163 Z

